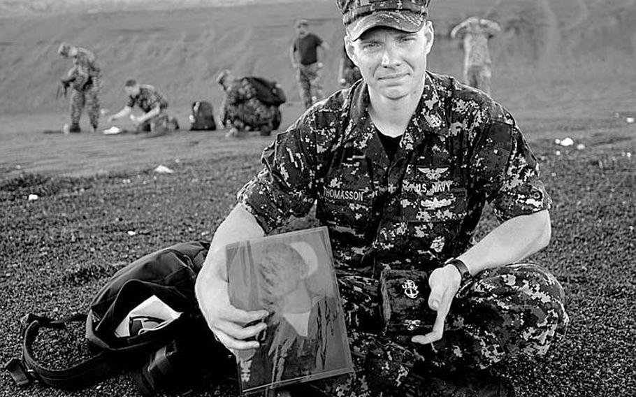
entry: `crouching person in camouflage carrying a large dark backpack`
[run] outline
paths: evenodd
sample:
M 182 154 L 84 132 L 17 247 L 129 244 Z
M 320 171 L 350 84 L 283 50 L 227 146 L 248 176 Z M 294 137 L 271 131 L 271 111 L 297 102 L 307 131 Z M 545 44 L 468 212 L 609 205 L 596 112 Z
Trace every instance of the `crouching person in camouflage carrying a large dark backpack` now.
M 217 76 L 225 96 L 221 103 L 219 120 L 229 128 L 226 136 L 239 136 L 244 131 L 261 131 L 269 135 L 277 128 L 275 118 L 280 113 L 277 106 L 268 105 L 256 97 L 256 89 L 247 78 L 236 78 L 231 71 L 224 70 Z

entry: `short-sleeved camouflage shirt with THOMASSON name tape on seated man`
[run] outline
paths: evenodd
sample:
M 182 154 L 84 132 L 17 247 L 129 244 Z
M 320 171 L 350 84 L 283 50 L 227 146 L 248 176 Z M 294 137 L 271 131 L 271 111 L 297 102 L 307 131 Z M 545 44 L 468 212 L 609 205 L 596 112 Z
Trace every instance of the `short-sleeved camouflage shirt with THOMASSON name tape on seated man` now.
M 393 161 L 368 98 L 362 81 L 336 92 L 263 151 L 238 199 L 266 233 L 317 200 L 341 266 L 430 270 L 468 248 L 486 200 L 500 221 L 549 208 L 535 156 L 489 96 L 427 73 Z

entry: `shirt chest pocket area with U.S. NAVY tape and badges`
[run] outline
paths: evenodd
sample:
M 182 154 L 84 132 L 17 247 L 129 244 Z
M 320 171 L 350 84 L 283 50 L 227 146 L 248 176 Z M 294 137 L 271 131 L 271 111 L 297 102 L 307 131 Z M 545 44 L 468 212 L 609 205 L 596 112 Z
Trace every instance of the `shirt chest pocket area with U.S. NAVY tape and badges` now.
M 409 166 L 400 196 L 405 222 L 450 222 L 467 212 L 467 192 L 448 167 Z

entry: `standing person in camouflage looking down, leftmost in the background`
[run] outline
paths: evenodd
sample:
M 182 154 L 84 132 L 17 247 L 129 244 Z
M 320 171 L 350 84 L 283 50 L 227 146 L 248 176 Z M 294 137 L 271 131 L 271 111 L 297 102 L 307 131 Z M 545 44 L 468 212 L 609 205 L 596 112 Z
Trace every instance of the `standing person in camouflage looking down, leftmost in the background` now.
M 65 58 L 73 59 L 73 68 L 62 79 L 64 89 L 71 87 L 71 127 L 69 131 L 80 132 L 80 117 L 84 107 L 93 132 L 99 126 L 99 95 L 102 88 L 101 69 L 95 54 L 86 48 L 62 43 L 57 50 Z M 65 91 L 66 92 L 66 91 Z

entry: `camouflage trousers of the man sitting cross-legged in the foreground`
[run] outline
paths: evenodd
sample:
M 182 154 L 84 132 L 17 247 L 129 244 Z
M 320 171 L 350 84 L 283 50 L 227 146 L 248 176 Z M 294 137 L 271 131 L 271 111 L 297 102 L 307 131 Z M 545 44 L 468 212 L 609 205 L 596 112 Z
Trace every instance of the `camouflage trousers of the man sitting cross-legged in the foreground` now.
M 315 382 L 328 396 L 422 396 L 422 375 L 436 368 L 487 368 L 505 356 L 545 354 L 565 335 L 565 294 L 534 264 L 484 270 L 458 292 L 433 345 L 398 343 L 380 332 L 377 281 L 338 271 L 356 372 Z M 419 377 L 417 375 L 420 375 Z M 430 388 L 430 389 L 429 389 Z

